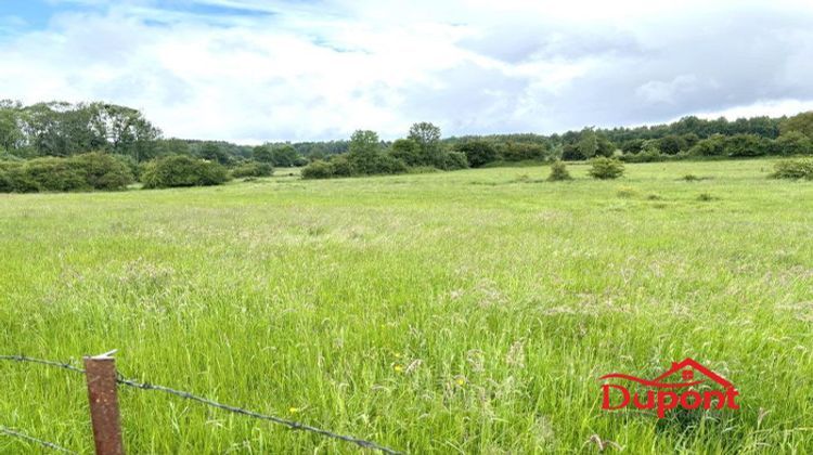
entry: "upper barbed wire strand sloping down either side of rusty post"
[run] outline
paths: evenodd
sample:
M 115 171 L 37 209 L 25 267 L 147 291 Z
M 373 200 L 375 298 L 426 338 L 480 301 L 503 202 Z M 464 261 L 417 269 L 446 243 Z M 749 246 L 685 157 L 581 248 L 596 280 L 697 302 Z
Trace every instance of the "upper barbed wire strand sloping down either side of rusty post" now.
M 85 369 L 79 368 L 77 366 L 74 366 L 74 365 L 72 365 L 69 363 L 54 362 L 54 361 L 42 360 L 42 359 L 35 359 L 35 358 L 29 358 L 29 356 L 26 356 L 26 355 L 0 355 L 0 361 L 11 361 L 11 362 L 21 362 L 21 363 L 35 363 L 35 364 L 48 365 L 48 366 L 53 366 L 53 367 L 57 367 L 57 368 L 67 369 L 69 372 L 74 372 L 74 373 L 85 374 Z M 155 391 L 160 391 L 160 392 L 169 393 L 169 394 L 175 395 L 175 396 L 179 396 L 179 398 L 182 398 L 182 399 L 195 401 L 195 402 L 205 404 L 207 406 L 217 407 L 219 410 L 228 411 L 230 413 L 240 414 L 240 415 L 244 415 L 244 416 L 247 416 L 247 417 L 250 417 L 250 418 L 260 419 L 260 420 L 268 420 L 268 421 L 271 421 L 271 422 L 274 422 L 274 424 L 278 424 L 278 425 L 283 425 L 283 426 L 288 427 L 288 428 L 291 428 L 293 430 L 308 431 L 308 432 L 320 434 L 320 435 L 323 435 L 323 437 L 333 438 L 333 439 L 337 439 L 337 440 L 345 441 L 345 442 L 350 442 L 350 443 L 357 444 L 357 445 L 359 445 L 361 447 L 370 448 L 370 450 L 374 450 L 374 451 L 379 451 L 379 452 L 383 452 L 383 453 L 386 453 L 386 454 L 401 454 L 402 453 L 402 452 L 396 451 L 393 448 L 389 448 L 389 447 L 386 447 L 384 445 L 377 444 L 377 443 L 375 443 L 373 441 L 367 441 L 367 440 L 360 439 L 360 438 L 353 438 L 353 437 L 346 435 L 346 434 L 338 434 L 338 433 L 334 433 L 333 431 L 328 431 L 328 430 L 324 430 L 324 429 L 321 429 L 321 428 L 312 427 L 310 425 L 301 424 L 301 422 L 294 421 L 294 420 L 288 420 L 286 418 L 276 417 L 276 416 L 272 416 L 272 415 L 268 415 L 268 414 L 260 414 L 260 413 L 257 413 L 257 412 L 254 412 L 254 411 L 249 411 L 249 410 L 245 410 L 245 408 L 237 407 L 237 406 L 231 406 L 231 405 L 228 405 L 228 404 L 219 403 L 219 402 L 214 401 L 214 400 L 209 400 L 209 399 L 204 398 L 204 396 L 195 395 L 193 393 L 190 393 L 190 392 L 186 392 L 186 391 L 183 391 L 183 390 L 176 390 L 176 389 L 171 389 L 169 387 L 158 386 L 158 385 L 149 384 L 149 382 L 139 382 L 139 381 L 133 380 L 133 379 L 124 378 L 124 377 L 121 377 L 118 374 L 117 374 L 117 377 L 116 377 L 116 382 L 118 382 L 118 384 L 120 384 L 122 386 L 132 387 L 132 388 L 136 388 L 136 389 L 139 389 L 139 390 L 155 390 Z M 2 427 L 0 427 L 0 429 Z M 46 442 L 46 441 L 42 441 L 42 442 Z M 54 447 L 59 447 L 59 446 L 54 446 Z M 62 447 L 59 447 L 59 448 L 62 448 Z M 68 453 L 73 453 L 73 452 L 68 451 Z

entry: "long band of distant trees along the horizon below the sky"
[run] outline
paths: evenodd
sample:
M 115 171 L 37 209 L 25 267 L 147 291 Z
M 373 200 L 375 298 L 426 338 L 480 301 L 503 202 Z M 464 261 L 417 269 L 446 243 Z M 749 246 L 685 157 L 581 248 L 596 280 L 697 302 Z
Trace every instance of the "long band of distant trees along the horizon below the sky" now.
M 440 129 L 415 123 L 396 141 L 357 131 L 349 140 L 266 143 L 165 139 L 137 109 L 108 103 L 23 105 L 0 101 L 0 160 L 115 156 L 136 178 L 152 160 L 186 156 L 224 167 L 232 177 L 261 177 L 272 168 L 307 166 L 308 178 L 452 170 L 516 161 L 616 157 L 628 162 L 691 157 L 813 154 L 813 112 L 793 117 L 728 121 L 684 117 L 668 125 L 568 131 L 562 134 L 492 134 L 442 139 Z

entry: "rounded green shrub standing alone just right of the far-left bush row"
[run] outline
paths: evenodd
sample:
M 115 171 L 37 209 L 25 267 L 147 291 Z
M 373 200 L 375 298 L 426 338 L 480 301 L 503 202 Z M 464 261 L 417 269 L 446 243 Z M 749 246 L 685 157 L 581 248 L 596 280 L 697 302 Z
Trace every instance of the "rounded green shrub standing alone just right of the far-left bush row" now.
M 170 155 L 150 161 L 141 176 L 145 188 L 219 185 L 229 180 L 217 162 L 185 155 Z

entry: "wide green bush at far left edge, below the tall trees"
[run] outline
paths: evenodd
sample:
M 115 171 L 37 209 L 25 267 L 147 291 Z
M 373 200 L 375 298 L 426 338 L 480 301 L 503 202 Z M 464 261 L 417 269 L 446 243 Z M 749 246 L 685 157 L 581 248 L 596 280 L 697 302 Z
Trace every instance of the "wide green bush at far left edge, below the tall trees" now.
M 127 166 L 103 153 L 0 165 L 0 192 L 7 193 L 122 190 L 132 181 Z

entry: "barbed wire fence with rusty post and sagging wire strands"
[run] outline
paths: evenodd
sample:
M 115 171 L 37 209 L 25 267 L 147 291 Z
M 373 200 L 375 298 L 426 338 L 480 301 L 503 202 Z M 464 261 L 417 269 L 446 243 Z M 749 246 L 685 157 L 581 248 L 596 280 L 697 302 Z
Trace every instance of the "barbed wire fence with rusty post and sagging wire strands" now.
M 111 377 L 111 380 L 112 381 L 115 380 L 116 385 L 127 386 L 127 387 L 134 388 L 134 389 L 138 389 L 138 390 L 151 390 L 151 391 L 159 391 L 159 392 L 168 393 L 170 395 L 175 395 L 175 396 L 182 398 L 182 399 L 185 399 L 185 400 L 194 401 L 194 402 L 197 402 L 197 403 L 210 406 L 210 407 L 216 407 L 216 408 L 219 408 L 219 410 L 222 410 L 222 411 L 227 411 L 227 412 L 230 412 L 230 413 L 233 413 L 233 414 L 238 414 L 238 415 L 243 415 L 243 416 L 246 416 L 246 417 L 249 417 L 249 418 L 259 419 L 259 420 L 271 421 L 273 424 L 285 426 L 285 427 L 287 427 L 287 428 L 289 428 L 292 430 L 306 431 L 306 432 L 319 434 L 319 435 L 322 435 L 322 437 L 325 437 L 325 438 L 332 438 L 332 439 L 336 439 L 336 440 L 339 440 L 339 441 L 349 442 L 349 443 L 359 445 L 360 447 L 369 448 L 369 450 L 373 450 L 373 451 L 378 451 L 378 452 L 382 452 L 382 453 L 385 453 L 385 454 L 402 454 L 402 452 L 400 452 L 400 451 L 397 451 L 397 450 L 393 450 L 393 448 L 380 445 L 380 444 L 378 444 L 376 442 L 373 442 L 373 441 L 364 440 L 364 439 L 361 439 L 361 438 L 354 438 L 354 437 L 351 437 L 351 435 L 336 433 L 336 432 L 333 432 L 333 431 L 330 431 L 330 430 L 325 430 L 325 429 L 322 429 L 322 428 L 313 427 L 313 426 L 310 426 L 310 425 L 307 425 L 307 424 L 302 424 L 302 422 L 299 422 L 299 421 L 294 421 L 294 420 L 289 420 L 289 419 L 286 419 L 286 418 L 273 416 L 273 415 L 261 414 L 261 413 L 258 413 L 258 412 L 255 412 L 255 411 L 250 411 L 250 410 L 246 410 L 246 408 L 238 407 L 238 406 L 232 406 L 232 405 L 229 405 L 229 404 L 217 402 L 215 400 L 207 399 L 205 396 L 196 395 L 196 394 L 188 392 L 188 391 L 177 390 L 177 389 L 172 389 L 172 388 L 169 388 L 169 387 L 158 386 L 158 385 L 154 385 L 154 384 L 150 384 L 150 382 L 140 382 L 140 381 L 137 381 L 134 379 L 125 378 L 125 377 L 120 376 L 115 370 L 115 366 L 113 364 L 113 358 L 109 356 L 109 354 L 112 354 L 113 352 L 115 352 L 115 351 L 112 351 L 112 352 L 108 352 L 107 354 L 102 354 L 102 355 L 99 355 L 99 356 L 85 358 L 85 362 L 86 362 L 86 368 L 85 369 L 83 368 L 79 368 L 79 367 L 77 367 L 75 365 L 72 365 L 69 363 L 66 363 L 66 362 L 56 362 L 56 361 L 51 361 L 51 360 L 36 359 L 36 358 L 29 358 L 29 356 L 26 356 L 26 355 L 0 355 L 0 361 L 39 364 L 39 365 L 46 365 L 46 366 L 62 368 L 62 369 L 65 369 L 65 370 L 72 372 L 72 373 L 77 373 L 77 374 L 86 375 L 87 381 L 88 381 L 88 393 L 89 393 L 90 400 L 91 400 L 91 417 L 92 417 L 92 420 L 93 420 L 93 434 L 94 434 L 94 438 L 96 440 L 96 453 L 105 452 L 105 451 L 101 451 L 100 450 L 100 435 L 103 437 L 103 438 L 112 438 L 112 439 L 115 439 L 117 437 L 119 439 L 119 445 L 120 445 L 120 438 L 121 438 L 120 429 L 118 429 L 118 404 L 117 404 L 117 399 L 116 399 L 116 395 L 115 395 L 115 390 L 113 391 L 112 401 L 113 401 L 113 404 L 115 406 L 115 414 L 116 414 L 115 415 L 115 420 L 116 420 L 115 421 L 115 427 L 116 428 L 114 428 L 112 431 L 116 431 L 117 430 L 118 434 L 109 434 L 109 432 L 111 432 L 109 428 L 101 428 L 101 427 L 114 424 L 114 422 L 108 421 L 108 420 L 111 420 L 108 418 L 109 417 L 108 415 L 105 416 L 107 418 L 103 419 L 103 420 L 106 420 L 106 421 L 103 422 L 105 425 L 98 425 L 96 416 L 94 415 L 94 412 L 98 412 L 94 408 L 94 404 L 98 404 L 98 403 L 94 403 L 94 402 L 102 401 L 102 402 L 105 402 L 103 404 L 109 404 L 107 402 L 109 402 L 111 400 L 109 400 L 108 395 L 103 396 L 101 400 L 98 399 L 98 398 L 94 398 L 99 393 L 105 393 L 104 391 L 99 391 L 98 390 L 99 386 L 96 384 L 99 381 L 103 381 L 104 377 L 94 376 L 93 378 L 91 378 L 91 373 L 96 373 L 95 372 L 96 368 L 95 368 L 95 366 L 93 366 L 95 361 L 109 361 L 109 366 L 112 367 L 111 372 L 113 373 L 113 376 Z M 107 363 L 107 362 L 105 362 L 105 363 Z M 91 369 L 94 369 L 94 372 L 91 372 Z M 104 411 L 108 412 L 109 408 L 103 410 L 103 412 Z M 101 432 L 103 434 L 98 434 L 98 432 Z M 67 448 L 64 448 L 64 447 L 62 447 L 62 446 L 60 446 L 57 444 L 54 444 L 52 442 L 43 441 L 43 440 L 34 438 L 34 437 L 24 434 L 22 432 L 9 429 L 9 428 L 3 427 L 3 426 L 0 426 L 0 433 L 4 433 L 4 434 L 10 435 L 10 437 L 16 437 L 16 438 L 20 438 L 20 439 L 23 439 L 23 440 L 27 440 L 29 442 L 35 442 L 35 443 L 38 443 L 38 444 L 40 444 L 40 445 L 42 445 L 44 447 L 52 448 L 54 451 L 59 451 L 59 452 L 63 452 L 63 453 L 72 453 L 72 454 L 76 453 L 76 452 L 69 451 Z M 104 443 L 104 442 L 109 442 L 109 441 L 102 441 L 102 443 Z M 114 441 L 114 445 L 115 445 L 115 441 Z M 108 452 L 108 453 L 116 453 L 116 451 L 113 450 L 113 452 Z

